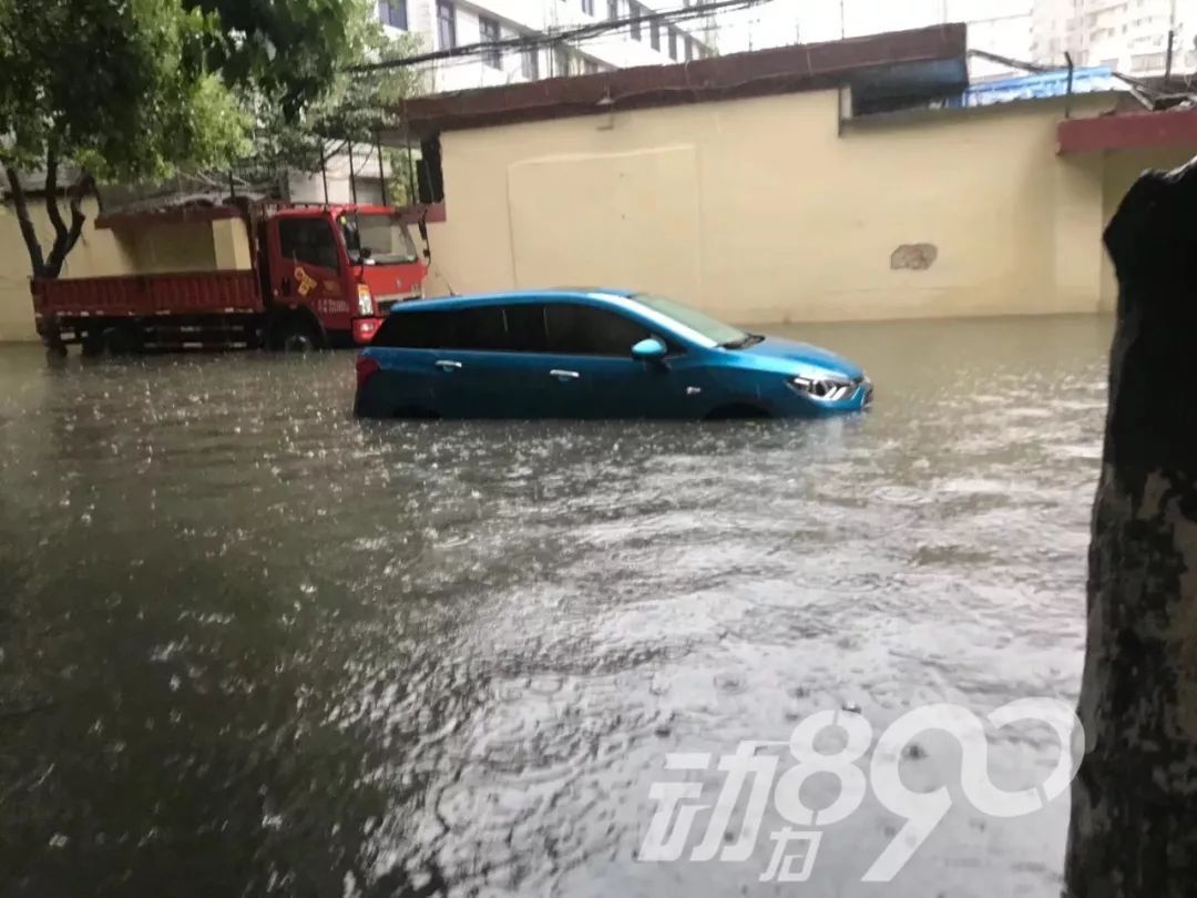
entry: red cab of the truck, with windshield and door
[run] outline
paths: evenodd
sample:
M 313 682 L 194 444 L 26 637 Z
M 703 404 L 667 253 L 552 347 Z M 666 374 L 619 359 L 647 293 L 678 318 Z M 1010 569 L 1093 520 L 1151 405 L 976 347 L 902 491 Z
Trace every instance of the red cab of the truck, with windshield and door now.
M 266 339 L 275 348 L 369 344 L 394 303 L 423 295 L 427 263 L 411 218 L 360 205 L 284 208 L 267 218 L 260 268 L 273 311 Z

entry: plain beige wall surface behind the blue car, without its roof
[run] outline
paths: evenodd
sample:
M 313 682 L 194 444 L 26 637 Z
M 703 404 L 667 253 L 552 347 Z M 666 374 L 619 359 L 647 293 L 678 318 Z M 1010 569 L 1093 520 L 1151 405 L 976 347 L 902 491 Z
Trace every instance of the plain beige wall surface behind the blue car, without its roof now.
M 1059 104 L 843 135 L 838 109 L 827 91 L 443 134 L 430 291 L 627 285 L 745 323 L 1099 309 L 1102 159 L 1057 157 Z M 904 244 L 934 263 L 893 269 Z

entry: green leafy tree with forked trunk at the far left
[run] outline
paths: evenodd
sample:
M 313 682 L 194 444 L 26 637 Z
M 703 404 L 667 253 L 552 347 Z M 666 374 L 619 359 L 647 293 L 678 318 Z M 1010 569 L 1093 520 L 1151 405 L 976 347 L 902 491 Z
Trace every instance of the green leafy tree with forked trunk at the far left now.
M 0 166 L 32 273 L 56 278 L 96 178 L 162 177 L 243 150 L 245 116 L 205 68 L 214 17 L 180 0 L 0 0 Z M 54 239 L 34 227 L 22 175 L 42 172 Z M 71 172 L 69 224 L 59 181 Z

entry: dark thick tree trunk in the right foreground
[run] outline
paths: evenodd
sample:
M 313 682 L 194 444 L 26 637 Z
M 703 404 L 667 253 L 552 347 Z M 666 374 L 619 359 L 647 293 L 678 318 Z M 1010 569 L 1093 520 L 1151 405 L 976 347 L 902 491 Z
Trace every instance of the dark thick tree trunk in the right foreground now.
M 1197 892 L 1197 159 L 1106 230 L 1118 274 L 1067 884 Z

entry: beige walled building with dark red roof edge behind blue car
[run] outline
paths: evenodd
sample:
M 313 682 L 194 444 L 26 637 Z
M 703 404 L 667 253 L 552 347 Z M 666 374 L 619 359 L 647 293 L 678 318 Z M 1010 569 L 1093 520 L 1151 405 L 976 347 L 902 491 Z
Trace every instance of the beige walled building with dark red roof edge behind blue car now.
M 961 105 L 966 56 L 936 25 L 411 101 L 443 174 L 429 292 L 631 285 L 746 324 L 1112 310 L 1102 229 L 1197 113 Z

